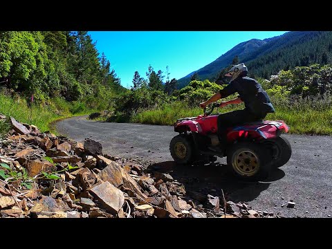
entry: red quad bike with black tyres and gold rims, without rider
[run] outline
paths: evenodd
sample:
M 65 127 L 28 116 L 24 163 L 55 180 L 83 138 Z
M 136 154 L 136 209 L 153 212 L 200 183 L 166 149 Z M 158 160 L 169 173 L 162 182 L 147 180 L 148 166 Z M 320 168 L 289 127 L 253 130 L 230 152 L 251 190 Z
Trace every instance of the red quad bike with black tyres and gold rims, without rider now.
M 288 140 L 280 134 L 288 132 L 284 121 L 248 122 L 228 129 L 226 148 L 219 146 L 217 117 L 211 114 L 219 104 L 204 109 L 204 115 L 181 118 L 174 123 L 179 135 L 169 145 L 177 164 L 208 161 L 214 156 L 227 156 L 228 169 L 235 176 L 248 180 L 263 180 L 273 167 L 281 167 L 291 158 Z

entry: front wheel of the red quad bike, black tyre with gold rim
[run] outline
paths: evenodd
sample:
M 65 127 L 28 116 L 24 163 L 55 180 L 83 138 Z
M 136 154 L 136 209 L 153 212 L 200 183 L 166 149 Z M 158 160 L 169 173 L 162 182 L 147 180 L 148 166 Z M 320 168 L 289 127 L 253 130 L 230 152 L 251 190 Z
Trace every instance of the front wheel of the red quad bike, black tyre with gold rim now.
M 187 164 L 194 158 L 194 146 L 190 135 L 179 134 L 172 138 L 169 151 L 175 163 Z

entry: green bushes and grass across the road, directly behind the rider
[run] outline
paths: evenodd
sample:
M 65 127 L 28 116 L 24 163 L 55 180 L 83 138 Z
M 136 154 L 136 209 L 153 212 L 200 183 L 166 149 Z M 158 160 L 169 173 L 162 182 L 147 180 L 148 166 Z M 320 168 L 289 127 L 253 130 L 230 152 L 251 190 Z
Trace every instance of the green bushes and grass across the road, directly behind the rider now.
M 284 120 L 291 128 L 291 133 L 332 135 L 331 65 L 299 66 L 290 71 L 280 71 L 269 80 L 257 80 L 270 95 L 276 109 L 276 113 L 269 113 L 266 120 Z M 177 118 L 203 114 L 199 103 L 210 98 L 223 86 L 193 78 L 188 86 L 171 95 L 154 92 L 153 97 L 145 89 L 133 89 L 131 98 L 119 98 L 120 104 L 116 106 L 116 114 L 113 116 L 116 118 L 109 120 L 172 125 Z M 152 98 L 158 101 L 151 101 Z M 228 99 L 232 98 L 235 96 Z M 243 104 L 229 105 L 218 109 L 216 113 L 242 108 Z

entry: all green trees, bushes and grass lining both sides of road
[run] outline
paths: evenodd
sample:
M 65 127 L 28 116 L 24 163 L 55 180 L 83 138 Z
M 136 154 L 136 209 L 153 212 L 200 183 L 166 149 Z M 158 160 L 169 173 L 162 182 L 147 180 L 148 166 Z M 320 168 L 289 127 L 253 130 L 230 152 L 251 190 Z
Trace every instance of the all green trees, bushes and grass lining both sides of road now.
M 238 63 L 236 56 L 232 64 Z M 215 77 L 218 84 L 193 73 L 190 84 L 179 89 L 168 66 L 162 71 L 149 65 L 145 77 L 133 73 L 126 89 L 85 31 L 0 31 L 0 113 L 42 131 L 60 118 L 103 110 L 107 116 L 99 120 L 172 125 L 177 118 L 203 113 L 199 103 L 228 83 L 223 75 L 229 67 Z M 292 133 L 331 135 L 331 64 L 288 69 L 268 79 L 255 77 L 277 110 L 266 119 L 284 120 Z M 8 131 L 8 121 L 0 122 L 0 134 Z

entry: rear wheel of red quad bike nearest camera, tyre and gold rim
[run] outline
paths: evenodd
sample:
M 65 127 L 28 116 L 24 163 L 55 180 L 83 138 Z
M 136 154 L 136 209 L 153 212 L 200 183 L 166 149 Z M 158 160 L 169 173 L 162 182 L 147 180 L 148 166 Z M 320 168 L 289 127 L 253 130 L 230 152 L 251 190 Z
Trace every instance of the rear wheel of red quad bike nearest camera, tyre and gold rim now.
M 270 174 L 271 159 L 263 145 L 237 142 L 228 150 L 227 163 L 229 171 L 237 178 L 259 181 Z

